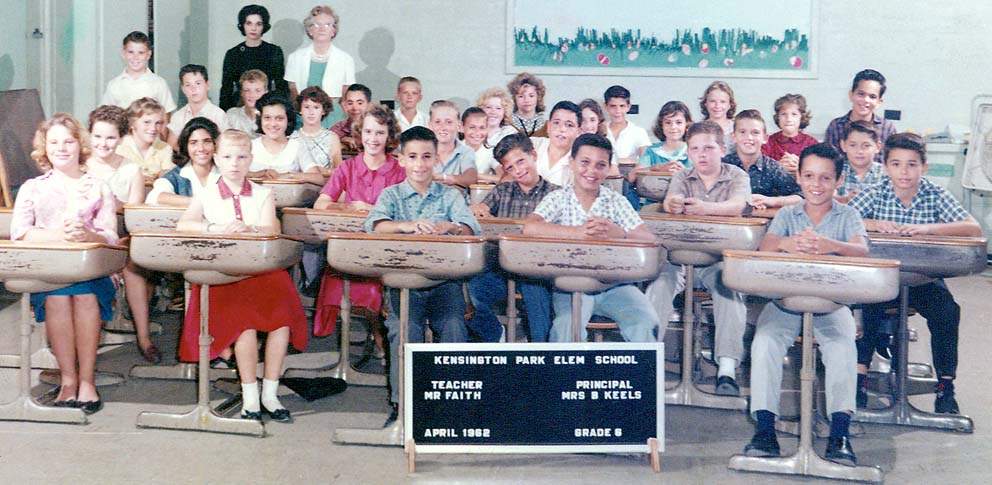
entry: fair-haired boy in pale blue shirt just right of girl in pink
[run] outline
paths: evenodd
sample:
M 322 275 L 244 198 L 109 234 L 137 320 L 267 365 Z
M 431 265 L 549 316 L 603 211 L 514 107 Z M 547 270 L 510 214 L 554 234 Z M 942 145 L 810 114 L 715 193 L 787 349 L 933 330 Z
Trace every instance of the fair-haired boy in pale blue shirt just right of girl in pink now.
M 462 129 L 458 107 L 447 100 L 431 103 L 429 128 L 437 137 L 434 181 L 467 190 L 477 181 L 475 152 L 458 140 Z

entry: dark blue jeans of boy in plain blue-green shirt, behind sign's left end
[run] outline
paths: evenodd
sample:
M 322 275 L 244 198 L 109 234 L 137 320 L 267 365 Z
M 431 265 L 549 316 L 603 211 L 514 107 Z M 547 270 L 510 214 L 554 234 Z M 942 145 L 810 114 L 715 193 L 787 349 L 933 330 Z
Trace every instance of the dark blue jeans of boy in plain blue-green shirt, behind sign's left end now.
M 400 290 L 386 288 L 386 329 L 389 331 L 389 388 L 390 402 L 399 402 L 400 369 Z M 410 290 L 410 326 L 407 342 L 424 341 L 424 325 L 429 320 L 431 330 L 437 340 L 445 343 L 460 343 L 466 340 L 465 297 L 462 284 L 447 281 L 440 285 Z M 344 343 L 346 344 L 346 342 Z

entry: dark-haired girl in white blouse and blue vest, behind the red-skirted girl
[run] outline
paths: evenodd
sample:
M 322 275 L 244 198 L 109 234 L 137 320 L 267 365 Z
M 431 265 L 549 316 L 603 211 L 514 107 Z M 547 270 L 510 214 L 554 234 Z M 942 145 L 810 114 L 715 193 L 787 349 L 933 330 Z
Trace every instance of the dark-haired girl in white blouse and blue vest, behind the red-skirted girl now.
M 173 156 L 176 168 L 155 180 L 145 203 L 189 207 L 193 196 L 217 183 L 214 143 L 220 132 L 213 121 L 193 118 L 179 132 L 179 151 Z

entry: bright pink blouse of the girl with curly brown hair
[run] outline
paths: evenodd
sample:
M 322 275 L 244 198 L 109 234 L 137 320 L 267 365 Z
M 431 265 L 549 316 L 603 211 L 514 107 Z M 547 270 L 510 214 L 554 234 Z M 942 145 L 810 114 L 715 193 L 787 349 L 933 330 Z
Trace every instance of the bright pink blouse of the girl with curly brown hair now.
M 375 170 L 369 170 L 369 166 L 365 164 L 365 154 L 359 153 L 358 156 L 341 162 L 341 165 L 334 169 L 331 179 L 320 193 L 330 197 L 332 201 L 337 201 L 344 192 L 345 203 L 360 201 L 375 204 L 386 187 L 404 180 L 406 180 L 406 171 L 400 167 L 396 157 L 386 155 L 385 164 Z

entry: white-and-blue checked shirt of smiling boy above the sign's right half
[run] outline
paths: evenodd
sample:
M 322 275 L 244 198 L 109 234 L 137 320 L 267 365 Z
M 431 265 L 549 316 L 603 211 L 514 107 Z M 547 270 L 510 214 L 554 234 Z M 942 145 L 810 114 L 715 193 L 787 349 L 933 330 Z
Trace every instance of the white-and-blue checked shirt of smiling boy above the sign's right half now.
M 537 209 L 534 209 L 534 213 L 541 216 L 545 222 L 562 226 L 581 226 L 593 216 L 605 217 L 625 231 L 631 231 L 644 224 L 630 202 L 605 185 L 599 188 L 599 195 L 589 206 L 589 212 L 586 212 L 579 202 L 575 187 L 568 186 L 545 196 L 537 205 Z

